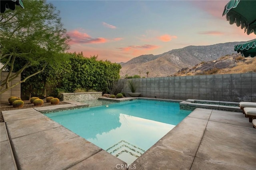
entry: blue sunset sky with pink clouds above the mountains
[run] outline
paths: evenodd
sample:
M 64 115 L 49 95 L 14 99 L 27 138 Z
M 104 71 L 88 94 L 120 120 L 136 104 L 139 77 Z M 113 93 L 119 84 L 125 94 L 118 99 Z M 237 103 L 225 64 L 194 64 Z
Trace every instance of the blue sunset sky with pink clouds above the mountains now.
M 127 62 L 189 45 L 242 42 L 247 35 L 222 17 L 228 0 L 47 0 L 60 11 L 68 52 Z

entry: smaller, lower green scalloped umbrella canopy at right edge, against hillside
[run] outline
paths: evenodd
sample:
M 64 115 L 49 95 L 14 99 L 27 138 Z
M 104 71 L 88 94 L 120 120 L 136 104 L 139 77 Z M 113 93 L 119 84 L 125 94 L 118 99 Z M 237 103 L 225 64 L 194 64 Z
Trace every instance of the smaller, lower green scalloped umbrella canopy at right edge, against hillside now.
M 256 56 L 256 39 L 249 42 L 235 45 L 235 51 L 240 52 L 244 57 L 255 57 Z

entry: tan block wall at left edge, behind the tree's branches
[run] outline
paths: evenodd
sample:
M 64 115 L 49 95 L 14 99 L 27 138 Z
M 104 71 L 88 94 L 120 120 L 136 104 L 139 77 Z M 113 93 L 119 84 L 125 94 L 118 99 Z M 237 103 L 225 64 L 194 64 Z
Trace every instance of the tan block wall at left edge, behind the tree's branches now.
M 6 72 L 6 71 L 2 71 L 1 73 L 1 80 L 4 80 L 6 79 L 7 75 L 8 75 L 9 72 Z M 18 83 L 20 81 L 20 75 L 12 80 L 10 83 L 9 83 L 9 86 L 12 86 L 14 85 L 15 83 Z M 16 85 L 15 87 L 13 87 L 12 89 L 9 89 L 8 91 L 4 92 L 3 94 L 1 94 L 1 103 L 2 102 L 8 102 L 8 98 L 11 97 L 11 96 L 16 96 L 16 97 L 20 97 L 20 84 L 19 85 Z

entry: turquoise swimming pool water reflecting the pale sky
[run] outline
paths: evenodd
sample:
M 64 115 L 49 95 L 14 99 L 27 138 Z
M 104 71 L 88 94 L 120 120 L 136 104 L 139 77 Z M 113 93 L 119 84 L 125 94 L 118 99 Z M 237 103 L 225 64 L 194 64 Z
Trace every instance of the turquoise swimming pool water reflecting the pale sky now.
M 131 164 L 190 113 L 179 103 L 136 99 L 46 115 Z

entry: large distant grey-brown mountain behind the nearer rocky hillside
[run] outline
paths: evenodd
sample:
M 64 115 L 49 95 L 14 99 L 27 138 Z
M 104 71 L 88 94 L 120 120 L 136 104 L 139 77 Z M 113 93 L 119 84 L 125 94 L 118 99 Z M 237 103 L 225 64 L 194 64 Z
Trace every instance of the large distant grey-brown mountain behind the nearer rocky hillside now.
M 204 46 L 187 46 L 159 55 L 140 55 L 126 63 L 120 63 L 120 75 L 140 75 L 147 77 L 166 77 L 173 75 L 182 68 L 192 67 L 201 62 L 212 61 L 224 55 L 236 53 L 234 45 L 243 42 L 218 43 Z

